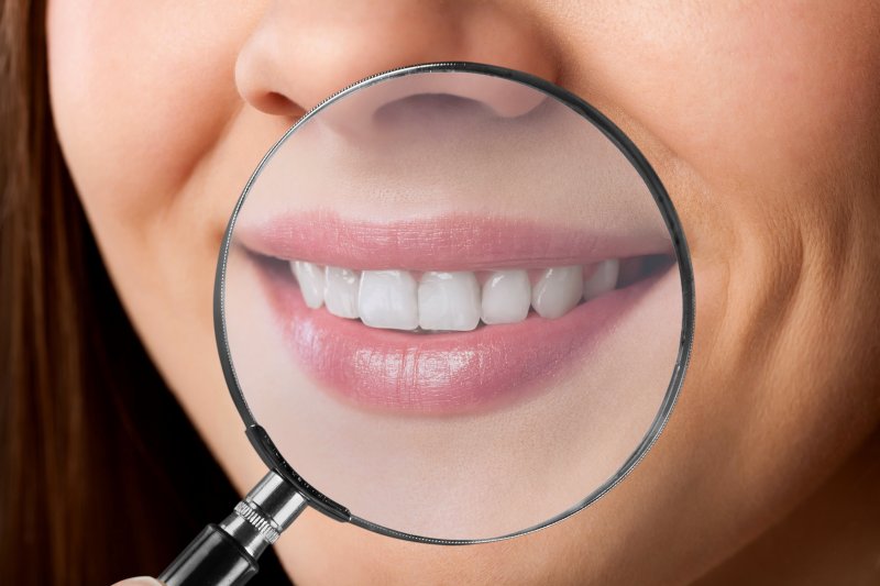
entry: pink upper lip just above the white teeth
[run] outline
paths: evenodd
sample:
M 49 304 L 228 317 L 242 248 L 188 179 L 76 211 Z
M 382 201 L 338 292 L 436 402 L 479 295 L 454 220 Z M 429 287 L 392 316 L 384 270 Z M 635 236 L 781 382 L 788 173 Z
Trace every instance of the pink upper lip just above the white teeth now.
M 451 214 L 370 222 L 316 210 L 239 223 L 233 242 L 260 256 L 358 269 L 481 270 L 585 265 L 669 254 L 669 235 L 578 230 L 531 220 Z

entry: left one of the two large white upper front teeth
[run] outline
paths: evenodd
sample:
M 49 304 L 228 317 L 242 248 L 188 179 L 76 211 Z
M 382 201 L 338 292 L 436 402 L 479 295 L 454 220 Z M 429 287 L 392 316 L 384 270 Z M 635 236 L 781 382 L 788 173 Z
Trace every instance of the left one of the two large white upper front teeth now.
M 363 270 L 358 313 L 372 328 L 415 330 L 419 324 L 416 279 L 407 270 Z

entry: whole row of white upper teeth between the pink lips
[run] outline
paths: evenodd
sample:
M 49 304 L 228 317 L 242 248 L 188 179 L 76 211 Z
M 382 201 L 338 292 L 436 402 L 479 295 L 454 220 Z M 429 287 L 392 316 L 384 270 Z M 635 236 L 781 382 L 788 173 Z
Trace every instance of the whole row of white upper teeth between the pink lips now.
M 470 331 L 483 323 L 526 319 L 529 306 L 542 318 L 559 318 L 581 299 L 615 288 L 619 262 L 558 266 L 532 270 L 487 272 L 483 279 L 469 270 L 421 274 L 408 270 L 353 270 L 290 261 L 302 298 L 312 309 L 356 319 L 372 328 Z M 482 290 L 480 280 L 483 281 Z

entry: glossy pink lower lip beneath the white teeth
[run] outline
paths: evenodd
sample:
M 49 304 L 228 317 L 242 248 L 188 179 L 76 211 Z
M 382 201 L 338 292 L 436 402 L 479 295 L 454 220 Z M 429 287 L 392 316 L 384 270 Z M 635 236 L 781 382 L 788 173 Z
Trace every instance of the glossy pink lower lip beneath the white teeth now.
M 583 366 L 615 324 L 668 269 L 547 320 L 471 332 L 417 334 L 369 328 L 308 308 L 298 288 L 263 272 L 284 338 L 301 367 L 355 407 L 403 414 L 444 416 L 501 408 L 534 395 L 549 377 Z

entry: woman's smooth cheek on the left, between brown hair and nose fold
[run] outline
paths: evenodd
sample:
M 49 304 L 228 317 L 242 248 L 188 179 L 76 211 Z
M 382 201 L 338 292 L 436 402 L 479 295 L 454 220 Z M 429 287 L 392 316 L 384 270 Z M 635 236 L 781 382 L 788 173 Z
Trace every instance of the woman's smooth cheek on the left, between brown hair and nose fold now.
M 143 224 L 172 203 L 239 107 L 233 67 L 254 12 L 51 2 L 55 123 L 94 222 L 107 214 Z

